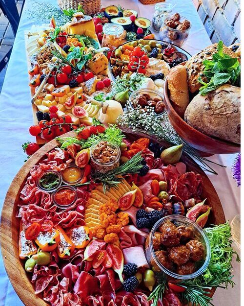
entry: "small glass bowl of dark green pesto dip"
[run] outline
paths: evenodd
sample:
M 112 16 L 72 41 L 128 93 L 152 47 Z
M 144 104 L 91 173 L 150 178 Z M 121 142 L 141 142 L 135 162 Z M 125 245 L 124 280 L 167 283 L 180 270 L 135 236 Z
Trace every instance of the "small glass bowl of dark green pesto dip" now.
M 55 170 L 46 170 L 37 178 L 37 187 L 45 192 L 53 192 L 62 184 L 60 172 Z

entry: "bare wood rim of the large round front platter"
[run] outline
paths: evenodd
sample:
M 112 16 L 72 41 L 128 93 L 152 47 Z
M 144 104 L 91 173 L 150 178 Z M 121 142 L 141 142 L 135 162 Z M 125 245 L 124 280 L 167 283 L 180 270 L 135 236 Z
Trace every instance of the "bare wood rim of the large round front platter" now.
M 169 146 L 168 143 L 156 141 L 153 137 L 150 137 L 146 134 L 140 132 L 134 133 L 128 129 L 122 130 L 124 134 L 131 140 L 136 140 L 139 137 L 148 137 L 151 139 L 151 141 L 158 142 L 164 147 Z M 74 132 L 68 132 L 62 137 L 73 136 L 73 133 Z M 30 282 L 30 278 L 23 268 L 23 262 L 19 259 L 18 240 L 20 221 L 19 218 L 16 218 L 18 211 L 18 199 L 20 190 L 24 185 L 25 179 L 27 178 L 30 169 L 34 165 L 38 164 L 47 152 L 58 145 L 59 143 L 56 140 L 48 142 L 43 147 L 41 147 L 38 152 L 31 156 L 28 161 L 21 167 L 20 171 L 17 173 L 8 189 L 1 213 L 0 243 L 3 262 L 10 282 L 12 283 L 15 291 L 25 306 L 47 306 L 49 304 L 43 301 L 41 296 L 35 295 L 34 288 Z M 208 221 L 209 224 L 224 223 L 225 217 L 220 199 L 206 174 L 191 158 L 185 154 L 182 156 L 182 162 L 186 164 L 187 171 L 195 171 L 202 175 L 204 183 L 202 197 L 207 198 L 207 204 L 212 207 L 211 217 Z

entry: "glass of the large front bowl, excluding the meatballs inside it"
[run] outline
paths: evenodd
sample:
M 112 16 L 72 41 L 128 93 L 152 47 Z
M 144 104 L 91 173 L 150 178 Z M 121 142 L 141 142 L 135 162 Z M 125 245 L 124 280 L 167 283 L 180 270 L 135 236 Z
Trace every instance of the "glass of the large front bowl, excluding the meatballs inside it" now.
M 205 256 L 204 259 L 199 261 L 199 266 L 197 267 L 198 269 L 192 273 L 192 274 L 187 274 L 187 275 L 180 275 L 177 273 L 174 273 L 168 269 L 166 269 L 163 264 L 159 261 L 159 259 L 156 256 L 154 247 L 153 247 L 153 237 L 155 232 L 158 232 L 158 228 L 165 223 L 166 221 L 171 221 L 173 222 L 177 227 L 184 225 L 187 227 L 190 227 L 193 231 L 193 235 L 195 240 L 199 240 L 203 243 L 204 249 L 205 249 Z M 145 255 L 148 264 L 151 266 L 152 262 L 155 265 L 154 271 L 156 274 L 159 275 L 160 278 L 164 278 L 169 281 L 179 281 L 179 280 L 190 280 L 194 279 L 195 277 L 198 277 L 201 275 L 207 268 L 210 258 L 211 258 L 211 249 L 210 249 L 210 243 L 203 232 L 203 229 L 190 220 L 189 218 L 182 216 L 182 215 L 168 215 L 160 219 L 158 222 L 156 222 L 149 233 L 149 241 L 145 245 Z

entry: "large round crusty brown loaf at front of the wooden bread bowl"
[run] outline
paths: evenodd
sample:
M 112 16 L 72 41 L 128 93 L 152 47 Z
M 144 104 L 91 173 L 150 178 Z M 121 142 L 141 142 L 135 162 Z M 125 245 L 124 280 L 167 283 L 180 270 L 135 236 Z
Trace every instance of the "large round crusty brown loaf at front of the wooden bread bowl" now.
M 225 84 L 205 96 L 197 94 L 184 119 L 203 134 L 240 144 L 241 88 Z

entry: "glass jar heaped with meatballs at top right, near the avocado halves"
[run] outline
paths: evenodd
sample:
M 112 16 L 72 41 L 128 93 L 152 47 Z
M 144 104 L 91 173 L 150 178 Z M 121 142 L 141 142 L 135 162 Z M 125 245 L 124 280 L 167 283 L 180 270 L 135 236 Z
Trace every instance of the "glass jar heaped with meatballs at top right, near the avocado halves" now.
M 191 23 L 179 13 L 175 13 L 163 19 L 159 36 L 161 40 L 181 47 L 188 38 L 190 28 Z

